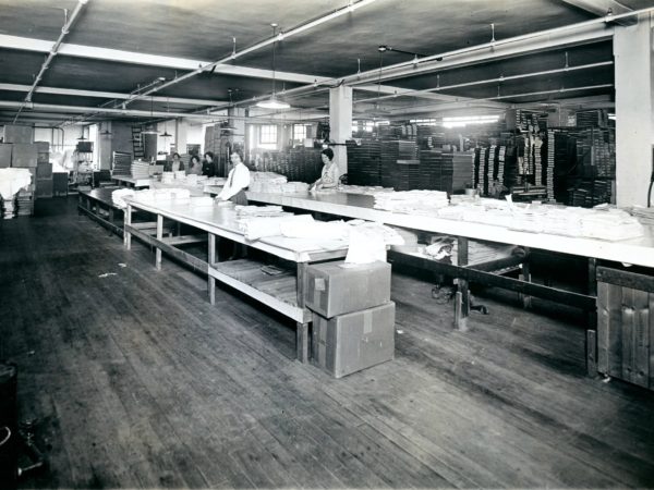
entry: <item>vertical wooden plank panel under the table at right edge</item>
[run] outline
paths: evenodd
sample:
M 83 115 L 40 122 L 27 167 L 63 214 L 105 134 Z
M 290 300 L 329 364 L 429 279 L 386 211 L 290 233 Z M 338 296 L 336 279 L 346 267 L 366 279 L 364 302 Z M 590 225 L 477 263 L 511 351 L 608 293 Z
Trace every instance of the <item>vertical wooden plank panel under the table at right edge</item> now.
M 654 277 L 597 268 L 597 370 L 654 389 Z

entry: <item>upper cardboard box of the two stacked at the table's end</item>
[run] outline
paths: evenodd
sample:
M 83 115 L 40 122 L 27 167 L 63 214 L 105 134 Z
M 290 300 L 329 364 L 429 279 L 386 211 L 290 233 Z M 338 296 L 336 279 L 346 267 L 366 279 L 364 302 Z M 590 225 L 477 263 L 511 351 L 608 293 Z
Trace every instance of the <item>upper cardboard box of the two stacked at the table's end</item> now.
M 343 261 L 308 266 L 304 280 L 307 308 L 325 318 L 359 311 L 390 301 L 390 264 Z

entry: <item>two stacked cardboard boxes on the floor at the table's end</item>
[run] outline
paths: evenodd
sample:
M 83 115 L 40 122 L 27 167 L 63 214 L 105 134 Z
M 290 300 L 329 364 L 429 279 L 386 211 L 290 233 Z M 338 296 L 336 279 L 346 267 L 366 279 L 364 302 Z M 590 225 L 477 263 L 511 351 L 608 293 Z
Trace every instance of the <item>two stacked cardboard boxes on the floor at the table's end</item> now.
M 395 355 L 390 265 L 342 261 L 307 267 L 305 304 L 314 311 L 312 362 L 335 378 Z

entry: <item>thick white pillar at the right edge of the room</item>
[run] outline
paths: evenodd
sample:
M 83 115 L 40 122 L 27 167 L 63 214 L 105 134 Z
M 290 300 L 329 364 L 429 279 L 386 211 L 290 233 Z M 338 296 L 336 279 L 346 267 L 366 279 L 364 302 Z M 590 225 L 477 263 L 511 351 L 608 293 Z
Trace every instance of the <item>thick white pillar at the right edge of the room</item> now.
M 616 203 L 647 204 L 654 144 L 654 45 L 652 24 L 616 27 Z M 654 200 L 654 197 L 653 197 Z

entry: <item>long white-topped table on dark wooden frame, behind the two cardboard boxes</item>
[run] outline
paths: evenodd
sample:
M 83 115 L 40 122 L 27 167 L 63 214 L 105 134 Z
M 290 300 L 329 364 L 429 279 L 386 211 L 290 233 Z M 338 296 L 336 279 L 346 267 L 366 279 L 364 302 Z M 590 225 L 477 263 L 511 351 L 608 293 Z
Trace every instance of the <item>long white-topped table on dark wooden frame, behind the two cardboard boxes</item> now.
M 424 256 L 420 256 L 420 254 L 400 254 L 393 252 L 389 252 L 389 260 L 395 264 L 405 264 L 458 278 L 459 291 L 457 292 L 455 303 L 455 324 L 461 329 L 465 328 L 465 320 L 470 313 L 469 282 L 517 291 L 525 295 L 525 303 L 529 302 L 529 296 L 537 296 L 586 310 L 589 313 L 589 321 L 585 326 L 586 366 L 591 373 L 597 372 L 598 346 L 600 363 L 605 365 L 601 370 L 602 372 L 609 372 L 610 362 L 602 358 L 602 356 L 605 356 L 606 352 L 610 352 L 611 350 L 619 350 L 620 343 L 619 339 L 608 339 L 609 335 L 615 338 L 615 335 L 619 334 L 615 333 L 615 330 L 610 330 L 613 329 L 610 321 L 615 322 L 615 320 L 607 320 L 606 318 L 603 320 L 605 324 L 608 324 L 609 329 L 604 330 L 608 330 L 609 333 L 605 334 L 606 338 L 597 339 L 597 280 L 600 279 L 635 290 L 650 290 L 654 293 L 654 280 L 652 279 L 654 270 L 646 271 L 645 274 L 630 273 L 616 271 L 615 268 L 602 262 L 608 261 L 618 262 L 618 265 L 640 266 L 640 268 L 654 268 L 654 233 L 651 226 L 647 228 L 646 235 L 643 237 L 609 242 L 597 238 L 517 231 L 493 224 L 384 211 L 373 208 L 374 198 L 370 195 L 347 193 L 293 195 L 249 192 L 247 197 L 251 201 L 262 204 L 372 220 L 410 230 L 456 236 L 458 241 L 458 266 L 429 260 Z M 523 249 L 523 254 L 509 259 L 498 260 L 495 265 L 486 264 L 481 268 L 469 266 L 469 240 L 520 246 Z M 529 253 L 532 248 L 573 255 L 586 259 L 586 294 L 532 283 L 529 272 Z M 512 279 L 493 273 L 495 268 L 500 269 L 511 265 L 521 265 L 521 279 Z M 640 268 L 638 268 L 639 271 L 642 271 Z M 631 342 L 631 339 L 627 340 L 627 342 Z

